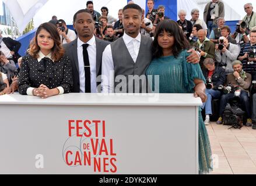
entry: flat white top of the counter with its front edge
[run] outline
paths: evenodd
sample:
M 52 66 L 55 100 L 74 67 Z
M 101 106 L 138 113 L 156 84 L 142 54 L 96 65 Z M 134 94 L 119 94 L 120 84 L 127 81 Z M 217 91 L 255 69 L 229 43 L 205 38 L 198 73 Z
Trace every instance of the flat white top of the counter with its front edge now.
M 201 106 L 193 94 L 64 94 L 41 99 L 19 94 L 0 96 L 0 105 L 76 105 L 76 106 Z

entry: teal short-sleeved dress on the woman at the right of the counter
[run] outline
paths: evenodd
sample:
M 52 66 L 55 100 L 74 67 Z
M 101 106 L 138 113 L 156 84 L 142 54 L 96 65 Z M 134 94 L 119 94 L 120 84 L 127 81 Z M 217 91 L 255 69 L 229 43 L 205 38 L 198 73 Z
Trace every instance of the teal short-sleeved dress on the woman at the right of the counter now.
M 200 66 L 187 62 L 190 55 L 183 50 L 178 58 L 174 56 L 163 56 L 154 59 L 148 69 L 146 76 L 159 76 L 160 93 L 194 93 L 194 79 L 204 80 Z M 154 79 L 154 78 L 153 78 Z M 155 87 L 154 82 L 150 87 Z M 155 90 L 152 90 L 155 91 Z M 209 173 L 212 170 L 212 152 L 208 133 L 199 110 L 199 174 Z

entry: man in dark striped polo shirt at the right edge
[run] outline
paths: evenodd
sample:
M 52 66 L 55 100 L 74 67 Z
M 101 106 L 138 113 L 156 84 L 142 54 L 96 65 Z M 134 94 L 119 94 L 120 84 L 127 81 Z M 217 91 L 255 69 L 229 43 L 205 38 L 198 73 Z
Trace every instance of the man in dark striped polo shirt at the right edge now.
M 256 67 L 256 30 L 250 33 L 250 42 L 241 47 L 239 60 L 243 63 L 243 70 L 247 73 L 254 73 Z M 256 77 L 253 77 L 255 80 Z

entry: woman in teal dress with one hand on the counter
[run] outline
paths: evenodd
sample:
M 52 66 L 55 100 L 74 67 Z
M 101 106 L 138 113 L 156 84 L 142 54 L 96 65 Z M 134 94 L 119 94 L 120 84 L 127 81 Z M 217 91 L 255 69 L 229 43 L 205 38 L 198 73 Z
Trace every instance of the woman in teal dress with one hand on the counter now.
M 146 75 L 159 76 L 159 93 L 194 93 L 205 102 L 205 78 L 198 64 L 187 62 L 189 48 L 190 44 L 176 22 L 160 22 L 152 44 L 153 61 L 146 70 Z M 154 82 L 150 87 L 155 87 Z M 152 88 L 152 91 L 157 90 Z M 211 156 L 208 133 L 199 110 L 199 174 L 212 170 Z

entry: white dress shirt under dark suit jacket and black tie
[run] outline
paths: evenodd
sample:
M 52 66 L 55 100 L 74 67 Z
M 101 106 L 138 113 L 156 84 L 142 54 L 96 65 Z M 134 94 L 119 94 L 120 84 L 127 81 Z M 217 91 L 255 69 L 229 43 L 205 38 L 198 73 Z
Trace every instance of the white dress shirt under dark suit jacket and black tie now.
M 90 84 L 91 92 L 97 93 L 96 84 L 96 40 L 93 37 L 86 43 L 78 38 L 78 65 L 79 65 L 79 79 L 80 79 L 80 93 L 85 92 L 85 63 L 83 62 L 83 44 L 89 44 L 87 47 L 87 52 L 89 55 L 90 62 Z

